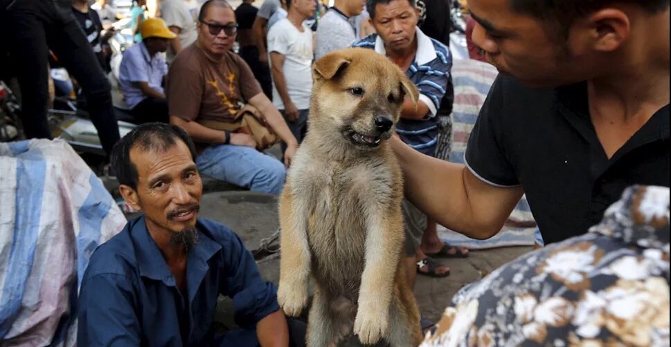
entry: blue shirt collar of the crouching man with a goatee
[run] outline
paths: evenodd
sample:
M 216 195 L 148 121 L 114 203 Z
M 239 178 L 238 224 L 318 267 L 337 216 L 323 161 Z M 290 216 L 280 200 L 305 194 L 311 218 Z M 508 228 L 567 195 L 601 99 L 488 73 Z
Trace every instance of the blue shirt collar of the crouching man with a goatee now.
M 156 245 L 154 239 L 147 230 L 145 216 L 140 216 L 134 221 L 130 221 L 126 227 L 129 227 L 131 238 L 136 250 L 138 270 L 140 276 L 163 281 L 165 285 L 175 286 L 175 278 L 165 263 L 163 254 Z M 202 225 L 196 224 L 198 232 L 198 243 L 189 251 L 186 261 L 186 281 L 189 299 L 193 299 L 195 292 L 200 285 L 204 275 L 209 270 L 208 260 L 222 249 L 222 245 L 212 240 L 204 234 Z M 197 282 L 197 283 L 195 283 Z

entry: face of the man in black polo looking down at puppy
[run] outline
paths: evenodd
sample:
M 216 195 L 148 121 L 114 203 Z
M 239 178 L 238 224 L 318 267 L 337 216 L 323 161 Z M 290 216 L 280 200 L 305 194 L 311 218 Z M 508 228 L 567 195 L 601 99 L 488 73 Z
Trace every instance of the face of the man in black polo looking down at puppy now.
M 571 53 L 571 35 L 566 40 L 558 28 L 513 11 L 510 0 L 469 0 L 468 4 L 477 23 L 473 43 L 501 73 L 532 87 L 587 79 L 589 59 Z

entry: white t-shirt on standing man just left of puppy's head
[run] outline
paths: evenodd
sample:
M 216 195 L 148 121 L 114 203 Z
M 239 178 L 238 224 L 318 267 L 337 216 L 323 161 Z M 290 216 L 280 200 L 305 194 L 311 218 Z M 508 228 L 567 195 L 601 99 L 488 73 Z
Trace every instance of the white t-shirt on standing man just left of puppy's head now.
M 268 54 L 271 52 L 285 56 L 282 71 L 292 102 L 299 110 L 309 109 L 312 94 L 312 30 L 303 25 L 301 32 L 289 19 L 281 19 L 268 32 Z M 275 82 L 273 104 L 279 110 L 285 109 Z

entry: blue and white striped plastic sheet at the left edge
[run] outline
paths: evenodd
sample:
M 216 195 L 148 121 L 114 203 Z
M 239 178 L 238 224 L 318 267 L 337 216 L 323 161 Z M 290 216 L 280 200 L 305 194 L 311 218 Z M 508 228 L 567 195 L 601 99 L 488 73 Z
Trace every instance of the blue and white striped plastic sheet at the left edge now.
M 63 140 L 0 143 L 0 345 L 74 346 L 89 256 L 125 223 Z

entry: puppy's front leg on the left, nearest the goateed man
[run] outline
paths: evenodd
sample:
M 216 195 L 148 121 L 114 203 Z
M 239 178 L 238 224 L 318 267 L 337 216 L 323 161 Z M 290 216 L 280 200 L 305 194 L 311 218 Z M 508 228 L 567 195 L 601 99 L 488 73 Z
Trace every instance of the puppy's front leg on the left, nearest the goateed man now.
M 307 306 L 310 248 L 307 245 L 307 206 L 286 183 L 280 196 L 280 285 L 277 300 L 288 316 Z

